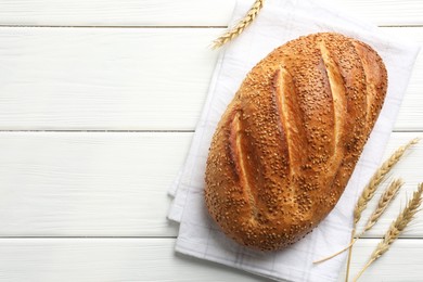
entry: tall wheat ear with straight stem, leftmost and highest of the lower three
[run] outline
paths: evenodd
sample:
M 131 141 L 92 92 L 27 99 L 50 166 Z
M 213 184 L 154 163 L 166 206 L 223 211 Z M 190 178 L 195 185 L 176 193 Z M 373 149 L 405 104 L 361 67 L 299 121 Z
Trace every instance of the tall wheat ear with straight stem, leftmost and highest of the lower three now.
M 372 178 L 370 179 L 369 183 L 366 185 L 364 190 L 362 191 L 360 197 L 357 201 L 356 207 L 354 208 L 354 223 L 352 223 L 352 231 L 351 231 L 351 240 L 350 244 L 354 242 L 354 236 L 356 235 L 356 228 L 357 223 L 361 218 L 361 213 L 366 209 L 368 206 L 368 203 L 372 197 L 374 196 L 374 193 L 377 190 L 379 184 L 385 179 L 386 175 L 390 171 L 390 169 L 401 159 L 402 155 L 406 153 L 406 151 L 416 144 L 420 141 L 419 138 L 414 138 L 410 142 L 408 142 L 406 145 L 402 145 L 397 149 L 397 151 L 394 152 L 389 156 L 388 159 L 386 159 L 382 166 L 374 172 Z M 347 259 L 347 271 L 345 273 L 345 281 L 348 282 L 349 277 L 349 265 L 351 264 L 351 247 L 348 248 L 348 259 Z

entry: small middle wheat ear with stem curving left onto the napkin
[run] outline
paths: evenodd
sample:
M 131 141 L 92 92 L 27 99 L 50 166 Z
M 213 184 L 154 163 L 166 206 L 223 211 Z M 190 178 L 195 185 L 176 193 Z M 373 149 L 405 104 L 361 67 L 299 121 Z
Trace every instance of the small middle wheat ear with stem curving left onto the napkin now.
M 328 259 L 331 259 L 331 258 L 333 258 L 333 257 L 335 257 L 337 255 L 341 255 L 342 253 L 344 253 L 345 251 L 350 248 L 357 242 L 357 240 L 359 238 L 361 238 L 367 231 L 369 231 L 377 222 L 379 218 L 383 215 L 383 213 L 386 210 L 386 208 L 389 206 L 389 204 L 394 201 L 394 198 L 398 194 L 398 191 L 399 191 L 399 189 L 401 188 L 402 184 L 403 184 L 403 182 L 402 182 L 401 179 L 396 179 L 396 180 L 394 180 L 389 184 L 389 187 L 381 195 L 381 197 L 379 200 L 379 203 L 377 203 L 377 206 L 374 209 L 373 214 L 369 217 L 369 220 L 368 220 L 363 231 L 361 231 L 361 233 L 359 235 L 357 235 L 349 243 L 348 246 L 344 247 L 339 252 L 336 252 L 335 254 L 333 254 L 333 255 L 331 255 L 329 257 L 316 260 L 316 261 L 313 261 L 313 264 L 320 264 L 320 262 L 326 261 Z

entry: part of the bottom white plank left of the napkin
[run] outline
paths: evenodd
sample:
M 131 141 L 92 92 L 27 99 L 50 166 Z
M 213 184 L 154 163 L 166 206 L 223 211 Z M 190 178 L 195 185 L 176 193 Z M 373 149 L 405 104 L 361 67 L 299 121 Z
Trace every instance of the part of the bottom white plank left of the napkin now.
M 175 255 L 174 245 L 174 239 L 4 239 L 0 240 L 0 278 L 80 282 L 256 281 L 256 277 L 241 271 Z

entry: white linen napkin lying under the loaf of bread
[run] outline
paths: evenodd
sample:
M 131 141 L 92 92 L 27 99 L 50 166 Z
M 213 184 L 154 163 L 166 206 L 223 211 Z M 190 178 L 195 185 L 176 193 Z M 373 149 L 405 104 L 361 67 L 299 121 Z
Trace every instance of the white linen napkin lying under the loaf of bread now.
M 238 22 L 249 5 L 248 1 L 239 1 L 232 22 Z M 385 104 L 333 211 L 309 235 L 285 249 L 252 251 L 228 239 L 205 208 L 204 171 L 210 139 L 245 75 L 259 60 L 291 39 L 319 31 L 337 31 L 357 38 L 379 52 L 388 70 Z M 274 280 L 335 281 L 346 254 L 324 264 L 313 265 L 312 261 L 333 254 L 349 242 L 356 198 L 380 164 L 418 52 L 418 46 L 390 38 L 380 28 L 324 7 L 321 1 L 266 1 L 253 25 L 221 52 L 191 150 L 169 191 L 175 200 L 168 218 L 181 223 L 176 251 Z

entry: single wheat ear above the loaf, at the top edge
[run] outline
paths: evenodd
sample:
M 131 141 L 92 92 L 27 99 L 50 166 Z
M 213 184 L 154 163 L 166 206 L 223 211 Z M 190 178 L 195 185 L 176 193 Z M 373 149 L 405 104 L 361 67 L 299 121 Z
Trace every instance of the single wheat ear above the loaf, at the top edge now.
M 217 49 L 241 35 L 244 29 L 256 18 L 258 12 L 264 5 L 264 2 L 265 0 L 256 0 L 246 15 L 233 28 L 228 30 L 225 35 L 221 35 L 213 42 L 213 49 Z

